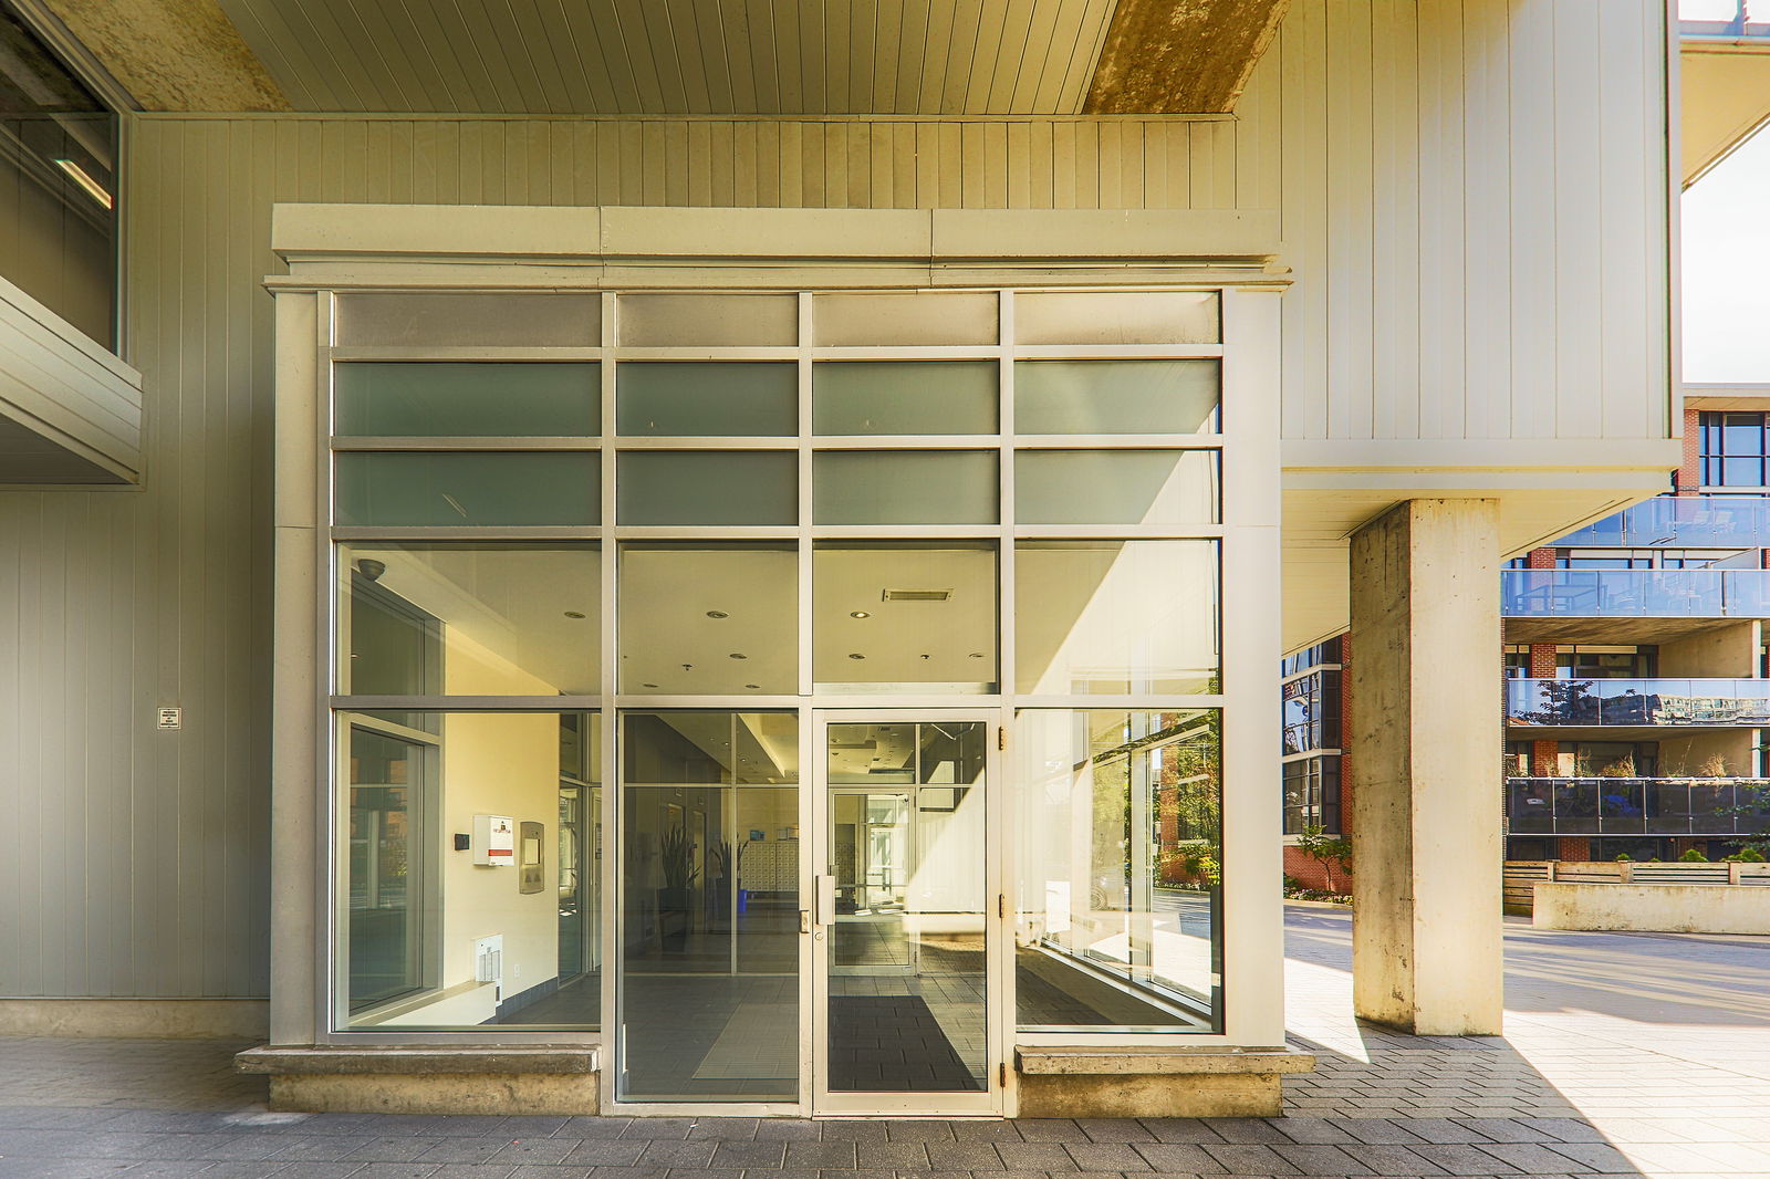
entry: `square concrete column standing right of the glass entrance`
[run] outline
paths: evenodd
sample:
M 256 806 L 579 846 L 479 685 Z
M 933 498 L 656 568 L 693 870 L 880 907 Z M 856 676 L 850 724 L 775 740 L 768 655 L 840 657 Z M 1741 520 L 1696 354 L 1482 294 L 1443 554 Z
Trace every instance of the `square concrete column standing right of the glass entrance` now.
M 1352 535 L 1352 995 L 1418 1036 L 1499 1034 L 1499 505 L 1411 499 Z

